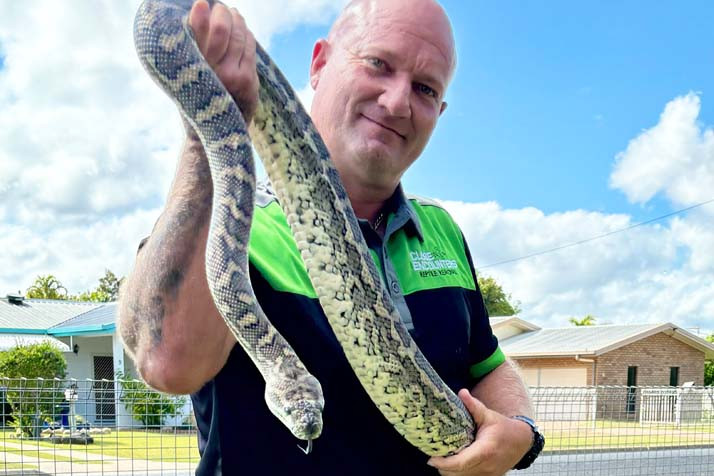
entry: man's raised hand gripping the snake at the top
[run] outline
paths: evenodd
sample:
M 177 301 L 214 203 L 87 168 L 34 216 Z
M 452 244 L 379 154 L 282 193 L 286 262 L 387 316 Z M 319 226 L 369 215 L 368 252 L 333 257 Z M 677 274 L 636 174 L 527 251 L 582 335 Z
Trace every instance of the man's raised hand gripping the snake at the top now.
M 258 73 L 255 69 L 255 38 L 235 8 L 222 3 L 213 8 L 197 0 L 188 24 L 199 50 L 238 103 L 246 122 L 258 104 Z

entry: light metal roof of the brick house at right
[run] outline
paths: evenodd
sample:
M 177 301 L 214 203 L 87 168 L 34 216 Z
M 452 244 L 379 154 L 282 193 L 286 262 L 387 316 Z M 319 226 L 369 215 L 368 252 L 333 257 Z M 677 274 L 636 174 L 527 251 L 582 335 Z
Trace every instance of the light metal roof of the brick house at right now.
M 500 345 L 510 357 L 598 356 L 660 332 L 714 359 L 714 344 L 669 322 L 539 329 L 504 339 Z

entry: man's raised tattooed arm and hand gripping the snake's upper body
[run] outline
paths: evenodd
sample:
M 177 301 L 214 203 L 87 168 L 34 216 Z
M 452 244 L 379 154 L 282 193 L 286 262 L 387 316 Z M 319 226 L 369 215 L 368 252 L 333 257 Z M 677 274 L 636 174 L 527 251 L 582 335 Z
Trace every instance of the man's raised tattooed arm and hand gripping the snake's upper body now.
M 248 122 L 258 97 L 255 39 L 235 9 L 197 1 L 189 24 L 204 57 Z M 206 280 L 205 250 L 213 185 L 196 133 L 187 137 L 164 212 L 136 257 L 121 292 L 118 327 L 149 385 L 190 393 L 225 364 L 235 338 Z

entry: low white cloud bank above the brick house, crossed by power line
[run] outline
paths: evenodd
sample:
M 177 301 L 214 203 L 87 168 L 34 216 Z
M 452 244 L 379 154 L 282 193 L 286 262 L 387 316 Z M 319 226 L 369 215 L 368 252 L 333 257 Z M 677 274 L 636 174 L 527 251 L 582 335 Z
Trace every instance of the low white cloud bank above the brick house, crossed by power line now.
M 444 202 L 469 242 L 477 269 L 543 325 L 593 314 L 611 323 L 673 321 L 711 328 L 711 226 L 696 216 L 648 225 L 559 251 L 487 265 L 620 230 L 629 217 L 575 210 L 546 215 L 495 203 Z M 709 246 L 710 248 L 710 246 Z

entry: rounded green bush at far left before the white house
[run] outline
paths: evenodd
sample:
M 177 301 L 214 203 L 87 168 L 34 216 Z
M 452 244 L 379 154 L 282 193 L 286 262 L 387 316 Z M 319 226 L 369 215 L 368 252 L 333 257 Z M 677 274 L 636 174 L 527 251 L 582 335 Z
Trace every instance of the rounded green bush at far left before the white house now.
M 12 379 L 6 397 L 12 407 L 10 424 L 18 435 L 37 436 L 36 418 L 53 419 L 55 406 L 64 398 L 60 382 L 54 379 L 62 379 L 66 373 L 62 352 L 49 342 L 0 352 L 0 376 Z

